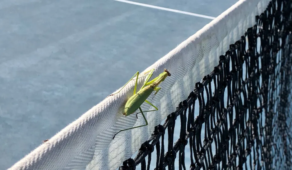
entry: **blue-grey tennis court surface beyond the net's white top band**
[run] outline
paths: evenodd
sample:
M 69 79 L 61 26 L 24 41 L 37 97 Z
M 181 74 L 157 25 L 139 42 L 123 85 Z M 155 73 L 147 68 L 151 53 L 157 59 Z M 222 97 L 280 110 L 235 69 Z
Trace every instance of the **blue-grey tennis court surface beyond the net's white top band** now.
M 0 1 L 1 169 L 237 1 L 135 2 Z

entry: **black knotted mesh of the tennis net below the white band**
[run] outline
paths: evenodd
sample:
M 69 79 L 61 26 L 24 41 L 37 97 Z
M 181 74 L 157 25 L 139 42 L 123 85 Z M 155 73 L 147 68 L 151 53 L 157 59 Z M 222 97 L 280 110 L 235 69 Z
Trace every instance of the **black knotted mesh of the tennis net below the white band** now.
M 270 2 L 119 169 L 292 169 L 291 16 L 291 0 Z

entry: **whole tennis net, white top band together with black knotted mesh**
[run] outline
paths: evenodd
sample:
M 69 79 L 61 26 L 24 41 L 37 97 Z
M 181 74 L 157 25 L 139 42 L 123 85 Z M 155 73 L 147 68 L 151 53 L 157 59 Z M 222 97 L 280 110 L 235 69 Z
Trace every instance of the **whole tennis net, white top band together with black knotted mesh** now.
M 153 161 L 151 169 L 173 169 L 176 160 L 178 169 L 289 169 L 290 31 L 291 1 L 240 0 L 145 70 L 154 69 L 153 77 L 171 72 L 148 99 L 159 109 L 145 113 L 148 126 L 112 140 L 145 123 L 141 115 L 122 115 L 132 81 L 10 169 L 150 169 Z

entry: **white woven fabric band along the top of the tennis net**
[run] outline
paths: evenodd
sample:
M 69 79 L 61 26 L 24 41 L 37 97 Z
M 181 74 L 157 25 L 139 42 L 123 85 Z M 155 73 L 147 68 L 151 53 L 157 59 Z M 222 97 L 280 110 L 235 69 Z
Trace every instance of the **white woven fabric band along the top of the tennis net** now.
M 119 130 L 145 123 L 141 115 L 138 120 L 135 114 L 122 115 L 126 100 L 133 94 L 135 82 L 132 81 L 119 94 L 91 108 L 10 170 L 116 169 L 150 137 L 154 126 L 187 98 L 194 84 L 213 71 L 218 65 L 218 56 L 225 54 L 229 45 L 255 24 L 255 16 L 262 13 L 268 3 L 269 0 L 238 1 L 146 69 L 155 69 L 153 78 L 164 68 L 171 72 L 171 77 L 161 83 L 162 88 L 154 100 L 149 99 L 159 111 L 145 113 L 148 126 L 121 132 L 112 140 Z M 145 77 L 139 80 L 141 85 Z M 149 109 L 148 104 L 142 105 L 143 111 Z

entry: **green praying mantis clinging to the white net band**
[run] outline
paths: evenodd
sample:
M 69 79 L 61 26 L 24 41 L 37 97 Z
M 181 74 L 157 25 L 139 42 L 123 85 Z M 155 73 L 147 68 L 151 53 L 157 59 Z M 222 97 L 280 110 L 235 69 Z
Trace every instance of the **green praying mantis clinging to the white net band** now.
M 156 106 L 154 106 L 153 104 L 151 104 L 149 101 L 147 101 L 147 98 L 150 96 L 150 94 L 153 91 L 155 91 L 155 94 L 153 95 L 153 98 L 154 98 L 154 96 L 161 89 L 161 87 L 157 87 L 157 86 L 161 82 L 163 82 L 167 76 L 171 76 L 171 73 L 169 73 L 169 71 L 167 69 L 164 69 L 163 73 L 160 73 L 159 76 L 157 76 L 153 80 L 149 81 L 149 79 L 153 75 L 152 74 L 153 71 L 154 71 L 154 69 L 151 69 L 150 71 L 145 72 L 143 76 L 141 76 L 141 77 L 145 77 L 145 76 L 148 76 L 148 77 L 146 78 L 145 83 L 143 84 L 143 86 L 140 88 L 140 90 L 138 92 L 136 92 L 136 90 L 137 90 L 137 84 L 138 84 L 139 71 L 137 71 L 137 73 L 135 73 L 134 76 L 118 92 L 114 93 L 114 94 L 119 93 L 136 76 L 137 78 L 136 78 L 136 83 L 135 83 L 135 87 L 134 87 L 134 94 L 126 102 L 123 115 L 125 115 L 125 116 L 131 115 L 131 114 L 135 113 L 136 110 L 139 109 L 140 112 L 138 112 L 138 113 L 142 114 L 142 116 L 143 116 L 143 118 L 145 120 L 145 123 L 146 123 L 145 125 L 141 125 L 141 126 L 136 126 L 136 127 L 120 130 L 118 133 L 120 133 L 122 131 L 125 131 L 125 130 L 134 129 L 134 128 L 143 127 L 143 126 L 147 126 L 148 125 L 147 119 L 145 118 L 145 115 L 144 115 L 144 113 L 143 113 L 143 111 L 142 111 L 142 109 L 140 107 L 144 103 L 144 101 L 155 108 L 155 110 L 151 110 L 151 111 L 158 111 L 158 108 Z M 147 74 L 147 73 L 149 73 L 149 74 Z M 147 75 L 145 75 L 145 74 L 147 74 Z M 112 96 L 114 94 L 111 94 L 109 96 Z M 151 112 L 151 111 L 144 111 L 144 112 Z M 137 116 L 138 113 L 136 114 L 137 118 L 138 118 L 138 116 Z M 114 134 L 114 137 L 118 133 Z M 114 137 L 113 137 L 113 139 L 114 139 Z

